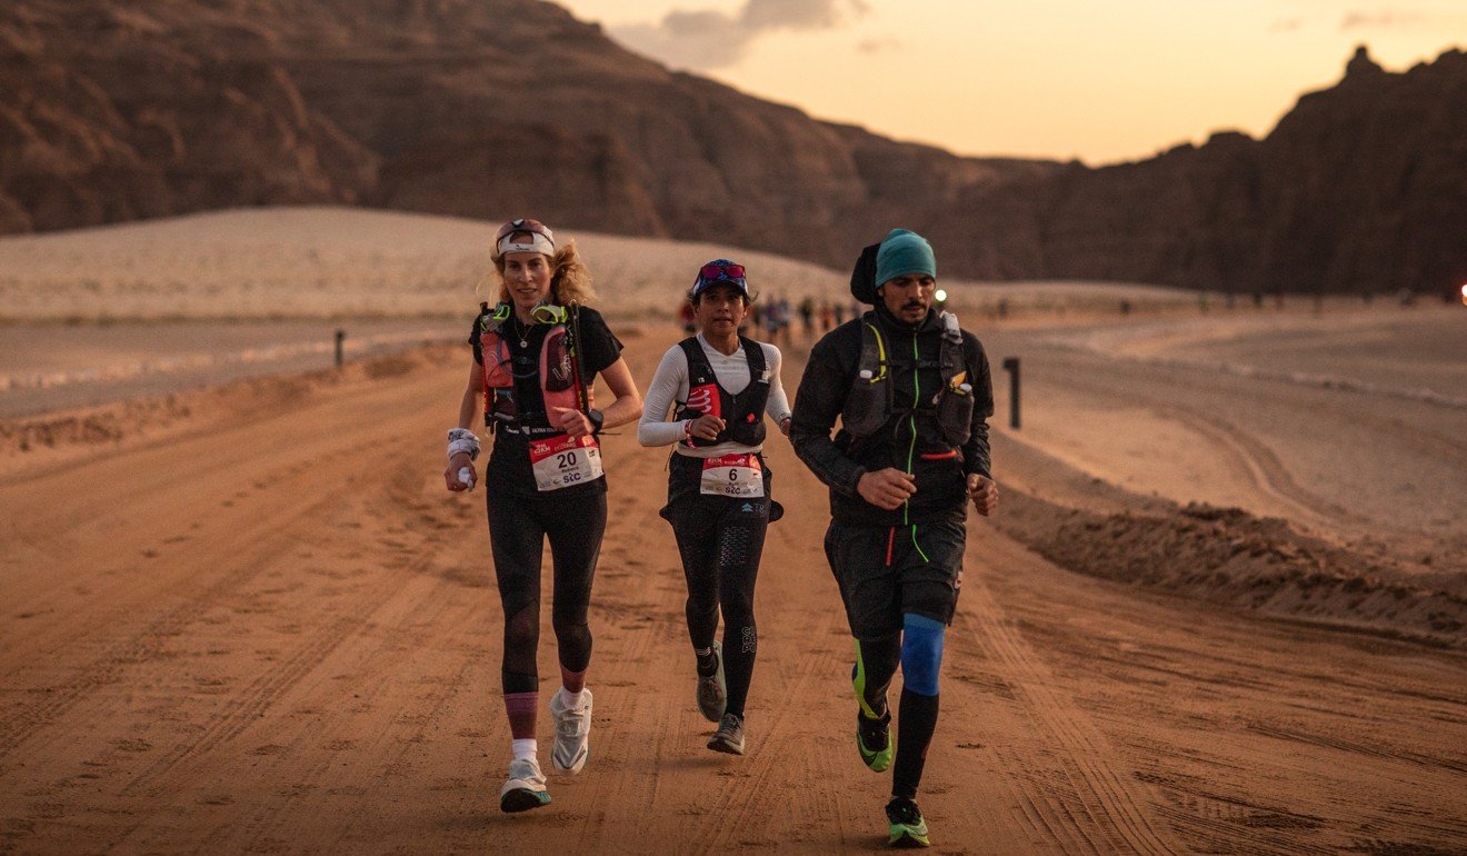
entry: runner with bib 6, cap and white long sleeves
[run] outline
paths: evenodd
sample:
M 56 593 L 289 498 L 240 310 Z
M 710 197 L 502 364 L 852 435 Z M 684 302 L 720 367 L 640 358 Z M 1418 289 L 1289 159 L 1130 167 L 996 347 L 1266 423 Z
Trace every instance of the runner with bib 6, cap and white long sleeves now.
M 789 433 L 779 348 L 738 335 L 751 301 L 744 266 L 716 258 L 698 270 L 688 302 L 700 332 L 663 354 L 637 426 L 644 446 L 676 443 L 662 515 L 672 524 L 688 580 L 698 709 L 719 724 L 709 749 L 731 755 L 744 755 L 764 530 L 782 514 L 770 499 L 770 471 L 760 454 L 764 414 Z M 713 639 L 720 606 L 722 645 Z

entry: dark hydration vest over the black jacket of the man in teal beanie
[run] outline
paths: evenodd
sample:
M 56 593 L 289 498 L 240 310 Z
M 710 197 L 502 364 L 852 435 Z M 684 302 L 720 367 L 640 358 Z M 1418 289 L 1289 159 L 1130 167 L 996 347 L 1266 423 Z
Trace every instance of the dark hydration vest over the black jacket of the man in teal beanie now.
M 962 333 L 958 317 L 942 313 L 942 345 L 937 355 L 937 370 L 942 385 L 937 392 L 915 405 L 896 405 L 896 389 L 892 382 L 892 352 L 882 333 L 882 324 L 874 311 L 861 316 L 861 360 L 857 364 L 855 382 L 846 392 L 841 408 L 841 424 L 855 439 L 863 439 L 882 430 L 892 417 L 904 417 L 915 411 L 930 411 L 937 420 L 942 439 L 954 446 L 968 442 L 973 430 L 973 386 L 967 383 L 967 369 L 962 363 Z M 930 369 L 930 361 L 918 361 L 912 371 Z M 911 399 L 907 399 L 911 401 Z

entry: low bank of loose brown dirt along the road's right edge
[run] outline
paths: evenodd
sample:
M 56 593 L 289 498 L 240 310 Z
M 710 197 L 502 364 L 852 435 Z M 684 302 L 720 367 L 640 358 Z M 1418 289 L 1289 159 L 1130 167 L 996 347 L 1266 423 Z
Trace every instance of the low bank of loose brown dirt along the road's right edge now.
M 1329 543 L 1238 508 L 1172 505 L 1097 514 L 1022 492 L 995 518 L 1006 534 L 1072 571 L 1272 617 L 1467 646 L 1463 581 Z

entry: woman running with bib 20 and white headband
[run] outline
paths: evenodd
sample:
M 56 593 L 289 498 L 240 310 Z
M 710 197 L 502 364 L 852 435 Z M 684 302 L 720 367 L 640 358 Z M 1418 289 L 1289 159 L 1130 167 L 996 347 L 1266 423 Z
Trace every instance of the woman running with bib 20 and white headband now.
M 575 242 L 556 247 L 537 220 L 512 220 L 494 236 L 499 304 L 481 307 L 469 344 L 474 364 L 449 432 L 449 490 L 472 487 L 480 396 L 494 451 L 484 471 L 489 540 L 505 609 L 502 665 L 513 761 L 499 808 L 522 812 L 550 802 L 535 758 L 540 678 L 540 555 L 555 564 L 552 621 L 560 649 L 560 689 L 550 699 L 559 772 L 579 772 L 590 753 L 591 662 L 587 606 L 606 532 L 606 479 L 597 433 L 641 416 L 641 398 L 621 358 L 622 344 L 588 304 L 591 278 Z M 596 410 L 600 374 L 616 401 Z

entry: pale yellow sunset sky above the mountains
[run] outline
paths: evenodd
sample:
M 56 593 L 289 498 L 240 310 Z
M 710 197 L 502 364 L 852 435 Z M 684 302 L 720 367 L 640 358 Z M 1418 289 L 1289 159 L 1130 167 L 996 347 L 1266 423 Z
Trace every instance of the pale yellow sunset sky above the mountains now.
M 1267 134 L 1357 44 L 1467 48 L 1467 0 L 559 0 L 643 54 L 959 154 L 1134 160 Z

